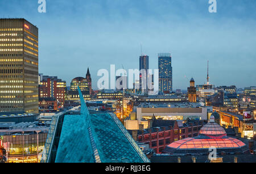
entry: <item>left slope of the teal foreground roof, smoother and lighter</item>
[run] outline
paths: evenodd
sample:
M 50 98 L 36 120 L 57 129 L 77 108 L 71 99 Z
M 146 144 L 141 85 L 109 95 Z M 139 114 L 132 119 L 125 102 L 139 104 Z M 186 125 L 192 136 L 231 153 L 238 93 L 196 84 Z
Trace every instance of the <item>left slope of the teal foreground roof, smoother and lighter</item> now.
M 93 163 L 92 146 L 82 115 L 66 115 L 61 130 L 56 163 Z

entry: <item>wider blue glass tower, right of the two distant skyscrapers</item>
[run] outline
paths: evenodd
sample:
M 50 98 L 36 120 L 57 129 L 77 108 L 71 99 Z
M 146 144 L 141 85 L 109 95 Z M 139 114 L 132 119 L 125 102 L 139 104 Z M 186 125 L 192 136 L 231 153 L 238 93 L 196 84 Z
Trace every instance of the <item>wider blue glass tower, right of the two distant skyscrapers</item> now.
M 172 57 L 170 53 L 158 54 L 159 92 L 172 91 Z

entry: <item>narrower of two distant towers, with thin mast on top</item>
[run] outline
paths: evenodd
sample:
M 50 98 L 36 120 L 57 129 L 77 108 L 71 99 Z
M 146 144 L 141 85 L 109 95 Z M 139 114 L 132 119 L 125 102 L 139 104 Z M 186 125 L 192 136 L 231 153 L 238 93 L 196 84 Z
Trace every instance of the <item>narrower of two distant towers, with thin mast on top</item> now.
M 144 73 L 139 74 L 139 89 L 142 93 L 147 93 L 147 76 L 148 76 L 148 69 L 149 69 L 148 60 L 149 60 L 149 57 L 146 55 L 139 56 L 139 70 L 144 71 Z

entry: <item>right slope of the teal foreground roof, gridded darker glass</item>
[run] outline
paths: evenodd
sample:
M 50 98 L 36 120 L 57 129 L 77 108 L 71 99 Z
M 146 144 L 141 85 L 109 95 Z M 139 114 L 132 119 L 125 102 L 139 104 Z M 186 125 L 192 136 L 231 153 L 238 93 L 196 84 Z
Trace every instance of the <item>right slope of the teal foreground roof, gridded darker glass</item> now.
M 92 114 L 91 118 L 92 128 L 97 136 L 97 148 L 101 152 L 100 156 L 104 162 L 126 158 L 131 163 L 143 163 L 138 152 L 135 151 L 109 113 Z

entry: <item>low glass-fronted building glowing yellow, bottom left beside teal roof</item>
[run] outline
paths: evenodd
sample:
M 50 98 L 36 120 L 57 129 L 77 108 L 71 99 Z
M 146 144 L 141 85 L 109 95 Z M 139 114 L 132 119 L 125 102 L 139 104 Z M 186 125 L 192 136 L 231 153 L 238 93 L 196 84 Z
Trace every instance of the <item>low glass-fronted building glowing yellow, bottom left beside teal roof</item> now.
M 22 127 L 22 129 L 21 129 Z M 49 126 L 35 122 L 0 124 L 0 139 L 7 163 L 39 163 Z

